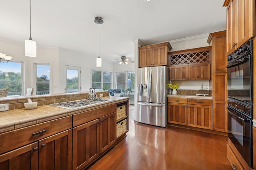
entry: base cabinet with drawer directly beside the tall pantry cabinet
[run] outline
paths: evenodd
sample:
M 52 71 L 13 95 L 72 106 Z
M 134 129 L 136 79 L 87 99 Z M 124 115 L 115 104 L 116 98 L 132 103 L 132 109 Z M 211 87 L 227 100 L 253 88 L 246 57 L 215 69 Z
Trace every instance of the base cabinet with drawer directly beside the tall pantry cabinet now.
M 212 100 L 188 99 L 188 126 L 212 130 Z

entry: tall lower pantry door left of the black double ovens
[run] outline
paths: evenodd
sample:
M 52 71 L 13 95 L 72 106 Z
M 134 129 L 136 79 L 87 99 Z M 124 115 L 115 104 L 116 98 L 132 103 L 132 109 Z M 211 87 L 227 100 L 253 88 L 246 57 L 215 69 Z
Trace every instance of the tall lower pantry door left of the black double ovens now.
M 227 132 L 226 73 L 214 73 L 212 79 L 213 130 Z

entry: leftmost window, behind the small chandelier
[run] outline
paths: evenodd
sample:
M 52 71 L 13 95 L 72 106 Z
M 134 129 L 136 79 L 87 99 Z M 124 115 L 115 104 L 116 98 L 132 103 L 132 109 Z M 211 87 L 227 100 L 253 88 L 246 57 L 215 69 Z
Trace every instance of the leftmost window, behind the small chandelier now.
M 8 96 L 22 96 L 21 62 L 0 63 L 0 89 L 8 89 Z

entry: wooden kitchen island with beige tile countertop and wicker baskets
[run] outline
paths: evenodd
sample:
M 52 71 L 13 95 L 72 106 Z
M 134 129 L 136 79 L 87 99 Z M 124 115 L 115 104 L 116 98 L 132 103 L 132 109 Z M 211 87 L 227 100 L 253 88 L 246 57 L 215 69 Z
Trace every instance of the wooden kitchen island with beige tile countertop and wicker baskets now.
M 86 168 L 128 132 L 129 98 L 104 98 L 104 104 L 79 109 L 42 105 L 0 112 L 0 169 Z

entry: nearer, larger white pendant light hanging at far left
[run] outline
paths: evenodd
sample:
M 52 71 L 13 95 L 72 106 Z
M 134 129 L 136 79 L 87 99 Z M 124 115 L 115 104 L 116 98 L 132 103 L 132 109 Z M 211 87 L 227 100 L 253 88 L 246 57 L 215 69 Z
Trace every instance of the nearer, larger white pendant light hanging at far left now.
M 29 17 L 30 17 L 30 37 L 25 40 L 25 55 L 28 57 L 36 57 L 36 41 L 31 38 L 31 0 L 29 0 Z

